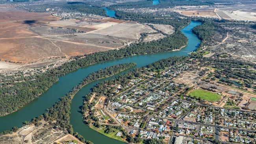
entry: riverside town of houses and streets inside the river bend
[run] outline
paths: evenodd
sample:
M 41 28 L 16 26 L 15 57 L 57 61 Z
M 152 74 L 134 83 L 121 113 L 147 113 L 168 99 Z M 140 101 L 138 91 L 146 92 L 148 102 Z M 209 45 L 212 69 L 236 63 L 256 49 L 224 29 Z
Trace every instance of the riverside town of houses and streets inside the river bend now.
M 256 105 L 251 104 L 255 90 L 215 79 L 219 70 L 205 66 L 202 59 L 145 69 L 141 76 L 109 86 L 111 99 L 94 97 L 100 125 L 121 126 L 131 137 L 174 144 L 256 142 Z M 242 97 L 249 99 L 244 102 Z M 123 139 L 122 135 L 115 131 L 116 138 Z

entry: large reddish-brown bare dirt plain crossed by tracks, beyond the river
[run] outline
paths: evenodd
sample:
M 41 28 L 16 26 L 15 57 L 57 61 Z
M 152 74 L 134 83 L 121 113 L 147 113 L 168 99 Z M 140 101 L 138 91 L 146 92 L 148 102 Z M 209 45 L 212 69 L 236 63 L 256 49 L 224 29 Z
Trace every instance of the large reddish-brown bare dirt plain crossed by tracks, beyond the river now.
M 53 57 L 68 58 L 119 49 L 137 42 L 140 33 L 154 32 L 150 26 L 113 18 L 59 19 L 50 13 L 30 13 L 12 5 L 0 6 L 1 60 L 35 63 Z M 9 64 L 0 66 L 10 68 Z

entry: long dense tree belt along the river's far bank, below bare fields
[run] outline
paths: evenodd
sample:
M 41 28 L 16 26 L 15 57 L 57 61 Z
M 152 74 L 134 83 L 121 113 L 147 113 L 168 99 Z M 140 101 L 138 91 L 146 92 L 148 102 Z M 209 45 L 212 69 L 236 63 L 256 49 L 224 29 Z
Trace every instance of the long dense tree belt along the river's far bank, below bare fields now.
M 43 74 L 34 76 L 36 80 L 24 82 L 11 82 L 0 85 L 0 116 L 16 111 L 23 105 L 31 102 L 40 94 L 49 89 L 53 83 L 58 81 L 58 76 L 72 72 L 78 68 L 88 66 L 92 63 L 100 63 L 121 57 L 167 52 L 181 48 L 187 44 L 187 38 L 180 31 L 168 35 L 164 39 L 152 42 L 134 43 L 121 50 L 97 52 L 94 54 L 74 57 L 74 61 L 48 70 Z

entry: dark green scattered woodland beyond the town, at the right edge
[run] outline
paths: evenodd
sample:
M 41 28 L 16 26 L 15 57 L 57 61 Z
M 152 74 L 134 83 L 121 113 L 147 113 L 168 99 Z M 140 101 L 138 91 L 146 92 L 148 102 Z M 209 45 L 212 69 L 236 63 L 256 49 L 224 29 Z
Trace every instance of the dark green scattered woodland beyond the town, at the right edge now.
M 219 59 L 221 54 L 217 54 L 214 57 L 193 56 L 194 58 L 201 59 L 203 66 L 210 66 L 215 68 L 212 79 L 218 79 L 217 83 L 230 85 L 233 89 L 241 90 L 251 94 L 255 94 L 249 91 L 248 88 L 253 88 L 253 83 L 256 80 L 256 74 L 253 71 L 256 68 L 254 63 L 248 61 L 239 61 L 236 59 Z M 243 68 L 241 68 L 243 66 Z M 234 79 L 234 80 L 229 80 Z M 205 80 L 206 82 L 210 82 Z M 236 84 L 236 87 L 232 86 Z

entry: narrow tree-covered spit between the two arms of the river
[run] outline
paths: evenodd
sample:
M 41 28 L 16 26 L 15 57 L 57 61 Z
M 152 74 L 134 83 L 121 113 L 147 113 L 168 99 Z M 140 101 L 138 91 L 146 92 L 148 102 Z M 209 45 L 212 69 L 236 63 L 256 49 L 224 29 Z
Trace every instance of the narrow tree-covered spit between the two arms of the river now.
M 80 90 L 84 85 L 95 81 L 101 78 L 107 78 L 109 76 L 113 76 L 114 74 L 118 74 L 119 72 L 126 70 L 135 66 L 135 63 L 125 63 L 107 67 L 105 69 L 99 70 L 98 72 L 94 72 L 89 74 L 83 81 L 74 87 L 68 94 L 63 96 L 60 101 L 58 101 L 53 107 L 48 109 L 48 112 L 40 115 L 37 118 L 33 118 L 31 122 L 24 122 L 24 125 L 35 124 L 37 125 L 40 120 L 43 118 L 47 121 L 56 121 L 56 125 L 60 126 L 64 131 L 68 131 L 70 134 L 76 136 L 80 141 L 86 142 L 86 144 L 90 144 L 89 141 L 86 141 L 80 134 L 74 133 L 72 126 L 69 124 L 69 113 L 71 100 L 73 96 Z M 17 127 L 13 127 L 12 130 L 3 131 L 0 135 L 6 135 L 12 132 L 17 131 Z

